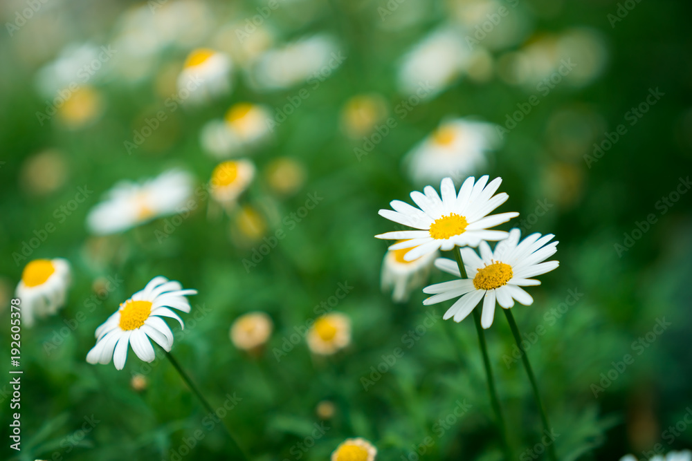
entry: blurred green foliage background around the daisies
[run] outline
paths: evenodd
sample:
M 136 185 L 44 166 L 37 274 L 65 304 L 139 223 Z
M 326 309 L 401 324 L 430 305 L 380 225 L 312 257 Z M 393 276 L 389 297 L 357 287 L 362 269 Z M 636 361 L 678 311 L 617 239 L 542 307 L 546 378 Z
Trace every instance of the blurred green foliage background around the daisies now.
M 415 460 L 419 455 L 430 460 L 502 459 L 471 321 L 436 321 L 409 348 L 408 332 L 430 312 L 444 313 L 448 304 L 426 307 L 420 290 L 408 303 L 393 303 L 379 286 L 387 243 L 373 236 L 392 229 L 377 211 L 390 200 L 407 200 L 410 191 L 422 187 L 408 178 L 402 158 L 441 120 L 476 116 L 504 126 L 507 114 L 536 94 L 540 104 L 504 133 L 488 167 L 478 173 L 501 176 L 501 190 L 509 200 L 500 211 L 521 213 L 502 229 L 520 226 L 520 219 L 547 203 L 548 211 L 522 230 L 554 233 L 560 241 L 556 258 L 561 266 L 529 290 L 534 305 L 518 305 L 514 311 L 523 332 L 530 335 L 545 327 L 529 357 L 560 434 L 558 455 L 562 460 L 613 460 L 626 453 L 644 458 L 656 444 L 664 452 L 692 445 L 692 428 L 684 423 L 680 429 L 692 408 L 691 196 L 682 194 L 671 206 L 659 202 L 676 190 L 680 178 L 689 178 L 692 166 L 689 3 L 279 0 L 261 21 L 272 31 L 272 46 L 326 33 L 345 55 L 343 64 L 316 88 L 303 81 L 265 91 L 251 84 L 251 71 L 236 59 L 230 93 L 170 112 L 128 153 L 124 142 L 133 139 L 133 131 L 167 107 L 190 50 L 226 46 L 232 54 L 237 35 L 228 25 L 242 28 L 268 5 L 200 1 L 185 10 L 180 7 L 184 2 L 176 1 L 46 0 L 32 6 L 8 0 L 0 6 L 5 24 L 0 33 L 3 332 L 9 331 L 9 300 L 28 260 L 63 257 L 73 270 L 65 308 L 22 332 L 21 453 L 9 449 L 10 349 L 3 333 L 1 458 L 172 460 L 186 438 L 204 429 L 203 409 L 167 362 L 157 360 L 149 367 L 131 351 L 122 371 L 85 361 L 95 328 L 119 303 L 163 274 L 199 290 L 191 302 L 193 310 L 205 314 L 199 321 L 183 314 L 186 328 L 176 338 L 174 352 L 212 404 L 223 403 L 228 393 L 242 398 L 226 420 L 255 459 L 325 460 L 354 436 L 375 444 L 380 460 Z M 442 25 L 459 28 L 462 37 L 473 36 L 486 12 L 500 6 L 510 13 L 502 19 L 506 23 L 498 23 L 481 41 L 482 65 L 469 67 L 448 88 L 399 117 L 397 105 L 409 97 L 397 86 L 402 57 Z M 28 19 L 26 8 L 33 11 Z M 619 8 L 627 15 L 614 21 L 608 15 L 617 15 Z M 145 18 L 138 25 L 141 35 L 124 25 L 134 11 Z M 17 15 L 25 19 L 21 26 Z M 157 20 L 158 28 L 147 29 L 147 21 Z M 149 46 L 147 30 L 163 44 L 137 55 L 137 48 Z M 570 42 L 581 73 L 565 77 L 543 95 L 536 89 L 540 66 L 557 53 L 555 39 L 549 37 L 574 30 L 590 40 L 590 46 Z M 130 51 L 123 37 L 131 38 Z M 118 50 L 116 60 L 88 79 L 98 94 L 96 102 L 75 109 L 76 115 L 39 120 L 37 112 L 45 111 L 52 99 L 44 81 L 48 86 L 61 82 L 60 73 L 45 73 L 46 66 L 66 47 L 86 43 Z M 530 48 L 536 43 L 548 45 Z M 75 79 L 69 70 L 64 73 L 66 82 Z M 163 219 L 115 236 L 90 236 L 86 215 L 118 180 L 140 180 L 177 167 L 190 171 L 196 186 L 203 185 L 219 162 L 200 144 L 206 122 L 223 117 L 240 101 L 264 104 L 274 114 L 301 88 L 308 88 L 309 97 L 253 153 L 258 173 L 241 204 L 260 216 L 259 230 L 250 226 L 255 232 L 248 232 L 242 217 L 214 213 L 213 205 L 201 200 L 163 241 L 155 234 Z M 663 96 L 630 124 L 634 119 L 626 118 L 628 112 L 656 88 Z M 397 127 L 358 158 L 354 149 L 363 148 L 363 136 L 349 138 L 341 124 L 349 98 L 363 93 L 381 95 Z M 626 134 L 593 161 L 594 143 L 612 138 L 609 133 L 619 124 L 626 124 Z M 289 194 L 271 187 L 268 169 L 277 158 L 291 158 L 304 168 L 304 181 Z M 84 185 L 93 194 L 62 218 L 56 210 Z M 256 267 L 246 270 L 243 259 L 252 257 L 262 238 L 286 229 L 282 219 L 302 207 L 308 194 L 323 200 Z M 656 223 L 631 248 L 618 250 L 616 245 L 625 245 L 649 214 L 655 214 Z M 55 223 L 55 232 L 26 261 L 17 261 L 12 254 L 21 252 L 46 223 Z M 89 300 L 104 292 L 108 277 L 122 282 L 89 312 Z M 435 272 L 431 280 L 446 279 Z M 335 308 L 352 319 L 349 348 L 319 359 L 311 357 L 301 339 L 277 361 L 272 350 L 281 348 L 295 327 L 316 317 L 315 306 L 334 295 L 338 283 L 353 287 Z M 565 302 L 569 290 L 582 295 L 548 321 L 545 313 Z M 237 350 L 228 338 L 233 320 L 251 310 L 267 312 L 275 326 L 259 358 Z M 88 312 L 86 319 L 62 335 L 79 312 Z M 672 325 L 638 354 L 633 341 L 663 318 Z M 507 324 L 498 317 L 486 337 L 516 455 L 521 461 L 543 457 L 531 451 L 540 440 L 540 420 L 522 366 L 507 359 L 513 345 Z M 399 347 L 405 355 L 365 390 L 361 378 L 370 377 L 370 367 Z M 594 396 L 592 385 L 603 385 L 601 373 L 628 353 L 635 355 L 634 363 Z M 135 373 L 146 376 L 145 391 L 131 388 Z M 327 420 L 316 413 L 325 400 L 335 406 Z M 471 406 L 441 431 L 439 420 L 459 402 Z M 85 417 L 99 422 L 82 434 Z M 297 448 L 307 446 L 313 425 L 322 421 L 329 430 L 311 448 Z M 678 435 L 671 437 L 666 431 L 676 424 Z M 225 433 L 218 427 L 204 433 L 182 458 L 228 459 Z M 434 444 L 421 455 L 418 445 L 426 437 Z

